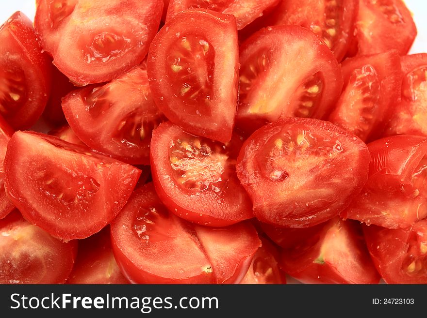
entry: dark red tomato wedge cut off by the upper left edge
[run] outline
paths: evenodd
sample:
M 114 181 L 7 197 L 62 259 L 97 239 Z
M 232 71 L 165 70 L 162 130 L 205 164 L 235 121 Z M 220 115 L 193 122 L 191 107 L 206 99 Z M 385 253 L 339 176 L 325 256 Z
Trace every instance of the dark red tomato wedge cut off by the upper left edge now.
M 51 65 L 21 12 L 0 27 L 0 115 L 14 129 L 30 128 L 49 98 Z

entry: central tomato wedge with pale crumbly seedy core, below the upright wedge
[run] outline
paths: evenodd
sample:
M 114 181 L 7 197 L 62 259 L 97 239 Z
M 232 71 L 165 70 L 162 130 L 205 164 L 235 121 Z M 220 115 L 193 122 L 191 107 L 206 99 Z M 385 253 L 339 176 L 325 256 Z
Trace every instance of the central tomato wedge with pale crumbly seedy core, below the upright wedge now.
M 221 144 L 162 123 L 151 140 L 151 172 L 164 205 L 183 219 L 223 227 L 253 217 L 236 175 L 242 140 Z

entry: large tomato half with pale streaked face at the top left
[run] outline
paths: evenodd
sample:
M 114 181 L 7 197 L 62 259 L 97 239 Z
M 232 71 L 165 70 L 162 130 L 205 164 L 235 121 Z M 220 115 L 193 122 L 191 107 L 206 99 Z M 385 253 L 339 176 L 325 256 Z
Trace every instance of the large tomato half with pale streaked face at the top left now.
M 109 81 L 139 64 L 162 0 L 37 0 L 34 25 L 55 66 L 76 85 Z

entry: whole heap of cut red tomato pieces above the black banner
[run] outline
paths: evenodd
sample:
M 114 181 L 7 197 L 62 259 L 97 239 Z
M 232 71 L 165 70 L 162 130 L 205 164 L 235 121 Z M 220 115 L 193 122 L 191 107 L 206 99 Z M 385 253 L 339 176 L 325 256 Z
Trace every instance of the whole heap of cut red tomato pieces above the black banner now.
M 0 283 L 427 284 L 416 33 L 402 0 L 16 12 Z

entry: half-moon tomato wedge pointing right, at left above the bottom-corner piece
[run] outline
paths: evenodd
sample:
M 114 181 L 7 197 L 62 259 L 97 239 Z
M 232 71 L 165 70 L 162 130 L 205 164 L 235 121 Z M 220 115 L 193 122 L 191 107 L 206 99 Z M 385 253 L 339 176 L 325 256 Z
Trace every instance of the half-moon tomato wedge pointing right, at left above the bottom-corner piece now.
M 4 171 L 6 193 L 22 215 L 64 241 L 109 224 L 141 173 L 86 147 L 20 131 L 9 141 Z

